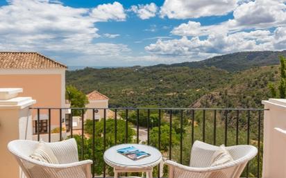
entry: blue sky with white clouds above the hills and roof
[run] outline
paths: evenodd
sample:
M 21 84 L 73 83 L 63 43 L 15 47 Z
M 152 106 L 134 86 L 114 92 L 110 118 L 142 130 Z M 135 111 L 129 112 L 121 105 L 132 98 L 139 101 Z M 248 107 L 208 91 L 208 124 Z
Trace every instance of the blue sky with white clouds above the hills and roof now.
M 0 0 L 0 51 L 133 66 L 286 49 L 285 0 Z

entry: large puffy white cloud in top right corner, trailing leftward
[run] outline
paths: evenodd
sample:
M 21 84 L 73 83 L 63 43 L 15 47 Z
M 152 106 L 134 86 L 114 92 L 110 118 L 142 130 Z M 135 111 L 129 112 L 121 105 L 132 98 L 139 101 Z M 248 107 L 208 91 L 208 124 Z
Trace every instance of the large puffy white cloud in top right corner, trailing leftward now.
M 286 25 L 286 4 L 283 1 L 256 0 L 240 1 L 233 12 L 233 19 L 220 24 L 201 26 L 199 22 L 188 21 L 171 30 L 180 36 L 202 36 L 212 33 L 234 33 L 241 30 L 268 29 Z

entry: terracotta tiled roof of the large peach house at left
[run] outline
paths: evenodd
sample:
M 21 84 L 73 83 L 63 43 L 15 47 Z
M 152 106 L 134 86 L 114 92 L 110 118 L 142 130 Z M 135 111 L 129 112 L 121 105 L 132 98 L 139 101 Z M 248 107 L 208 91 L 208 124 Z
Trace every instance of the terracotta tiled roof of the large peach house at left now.
M 33 52 L 0 52 L 0 69 L 66 69 L 67 66 Z

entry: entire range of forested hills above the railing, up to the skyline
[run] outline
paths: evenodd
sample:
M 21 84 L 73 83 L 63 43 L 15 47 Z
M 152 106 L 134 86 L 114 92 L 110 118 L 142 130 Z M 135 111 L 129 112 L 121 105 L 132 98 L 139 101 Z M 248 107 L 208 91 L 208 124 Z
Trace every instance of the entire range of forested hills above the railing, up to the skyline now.
M 242 52 L 201 62 L 67 71 L 67 84 L 98 90 L 110 107 L 261 107 L 277 80 L 278 55 Z M 272 65 L 272 66 L 270 66 Z

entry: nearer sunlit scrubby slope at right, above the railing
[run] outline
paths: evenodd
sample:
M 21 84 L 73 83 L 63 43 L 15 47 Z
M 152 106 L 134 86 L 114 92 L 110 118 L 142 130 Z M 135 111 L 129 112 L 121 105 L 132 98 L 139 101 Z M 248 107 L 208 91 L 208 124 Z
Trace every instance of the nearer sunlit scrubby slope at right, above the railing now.
M 262 107 L 261 101 L 271 97 L 267 84 L 277 79 L 277 65 L 237 72 L 225 87 L 202 96 L 190 107 Z

